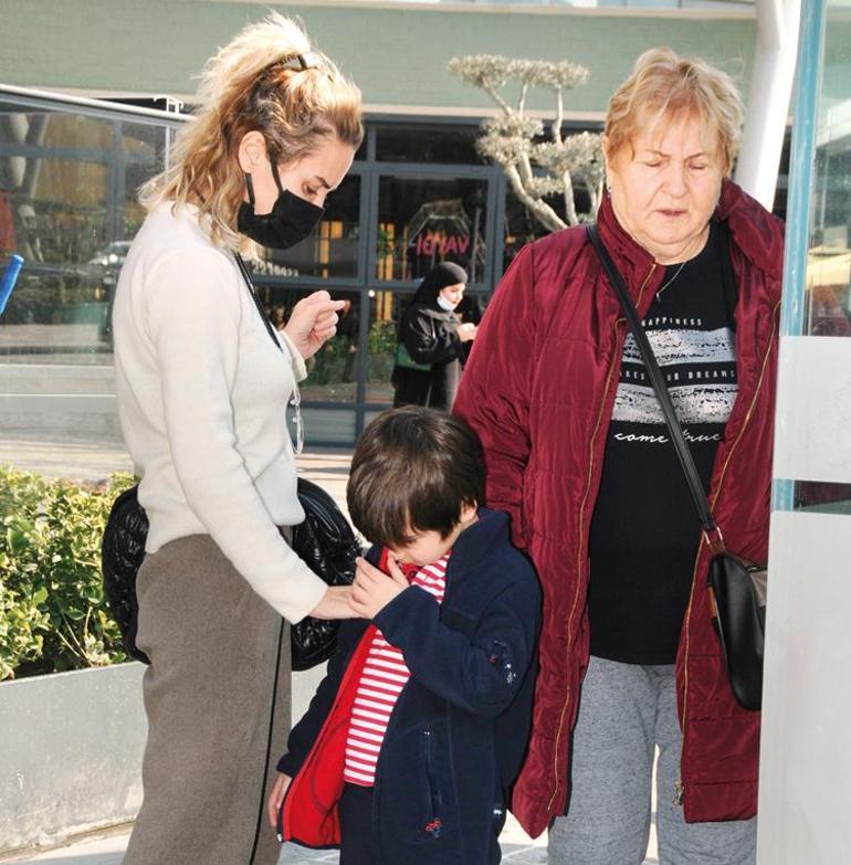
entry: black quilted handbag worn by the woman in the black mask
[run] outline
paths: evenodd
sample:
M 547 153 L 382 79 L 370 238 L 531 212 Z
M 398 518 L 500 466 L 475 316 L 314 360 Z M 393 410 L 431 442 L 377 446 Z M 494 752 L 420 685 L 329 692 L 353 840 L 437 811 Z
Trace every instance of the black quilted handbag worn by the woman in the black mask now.
M 248 268 L 237 255 L 237 264 L 275 346 L 283 351 L 263 305 L 251 283 Z M 293 527 L 292 548 L 311 570 L 328 586 L 349 586 L 355 580 L 355 559 L 360 545 L 336 502 L 322 487 L 303 477 L 297 479 L 298 502 L 305 518 Z M 113 619 L 122 633 L 124 647 L 130 657 L 149 664 L 148 656 L 136 645 L 138 601 L 136 574 L 145 559 L 148 517 L 134 486 L 115 499 L 104 529 L 101 547 L 101 570 L 104 593 Z M 309 669 L 334 654 L 339 620 L 305 616 L 292 626 L 292 668 Z

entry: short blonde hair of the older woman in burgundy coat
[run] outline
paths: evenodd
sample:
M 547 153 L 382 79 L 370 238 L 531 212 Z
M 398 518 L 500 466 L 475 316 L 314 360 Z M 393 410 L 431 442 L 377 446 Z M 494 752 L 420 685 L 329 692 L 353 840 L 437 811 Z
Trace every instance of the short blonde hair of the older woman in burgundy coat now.
M 694 114 L 718 137 L 723 171 L 728 175 L 742 144 L 744 106 L 725 72 L 696 57 L 681 57 L 668 48 L 645 51 L 632 74 L 609 99 L 605 134 L 609 156 L 630 144 L 640 128 Z

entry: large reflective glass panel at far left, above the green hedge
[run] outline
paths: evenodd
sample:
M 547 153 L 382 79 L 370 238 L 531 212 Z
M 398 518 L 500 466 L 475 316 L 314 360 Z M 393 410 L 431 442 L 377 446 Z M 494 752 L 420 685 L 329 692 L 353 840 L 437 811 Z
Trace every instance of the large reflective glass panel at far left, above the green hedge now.
M 132 470 L 109 312 L 164 143 L 156 123 L 0 103 L 0 268 L 25 259 L 0 319 L 0 463 L 87 482 Z

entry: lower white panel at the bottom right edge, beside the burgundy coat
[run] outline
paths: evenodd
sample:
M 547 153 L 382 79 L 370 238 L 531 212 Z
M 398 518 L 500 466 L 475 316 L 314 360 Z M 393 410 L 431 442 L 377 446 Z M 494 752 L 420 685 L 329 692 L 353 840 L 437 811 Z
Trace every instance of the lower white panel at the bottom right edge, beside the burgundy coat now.
M 851 862 L 851 520 L 775 513 L 769 574 L 758 863 L 840 865 Z

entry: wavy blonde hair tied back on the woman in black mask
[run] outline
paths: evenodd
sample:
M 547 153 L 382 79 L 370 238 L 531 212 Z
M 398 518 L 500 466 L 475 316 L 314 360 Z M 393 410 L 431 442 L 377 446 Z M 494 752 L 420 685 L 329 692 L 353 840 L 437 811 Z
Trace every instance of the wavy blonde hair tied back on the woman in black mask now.
M 311 53 L 318 66 L 292 68 Z M 357 148 L 364 139 L 360 91 L 334 63 L 311 48 L 294 21 L 272 12 L 249 24 L 204 66 L 200 107 L 180 130 L 171 166 L 145 183 L 139 201 L 196 204 L 218 245 L 245 247 L 235 230 L 245 179 L 239 165 L 242 137 L 262 133 L 270 158 L 291 162 L 335 137 Z

